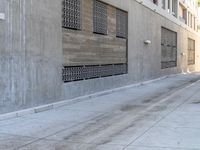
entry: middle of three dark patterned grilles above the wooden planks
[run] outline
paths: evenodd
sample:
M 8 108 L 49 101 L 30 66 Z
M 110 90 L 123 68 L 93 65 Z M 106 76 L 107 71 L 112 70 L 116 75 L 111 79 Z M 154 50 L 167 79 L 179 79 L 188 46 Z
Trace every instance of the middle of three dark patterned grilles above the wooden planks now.
M 107 34 L 107 5 L 94 1 L 94 33 Z

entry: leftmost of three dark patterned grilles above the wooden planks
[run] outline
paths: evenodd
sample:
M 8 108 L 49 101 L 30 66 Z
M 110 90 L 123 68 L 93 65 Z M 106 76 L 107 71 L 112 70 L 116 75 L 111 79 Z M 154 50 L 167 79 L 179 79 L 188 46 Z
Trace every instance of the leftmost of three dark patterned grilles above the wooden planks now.
M 80 29 L 80 0 L 63 0 L 62 26 Z

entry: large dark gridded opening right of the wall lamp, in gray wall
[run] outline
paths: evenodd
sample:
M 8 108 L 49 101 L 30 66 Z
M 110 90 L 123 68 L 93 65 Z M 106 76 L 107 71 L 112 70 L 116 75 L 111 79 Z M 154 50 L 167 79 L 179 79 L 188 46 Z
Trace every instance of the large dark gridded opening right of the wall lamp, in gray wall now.
M 162 27 L 161 68 L 177 66 L 177 33 Z

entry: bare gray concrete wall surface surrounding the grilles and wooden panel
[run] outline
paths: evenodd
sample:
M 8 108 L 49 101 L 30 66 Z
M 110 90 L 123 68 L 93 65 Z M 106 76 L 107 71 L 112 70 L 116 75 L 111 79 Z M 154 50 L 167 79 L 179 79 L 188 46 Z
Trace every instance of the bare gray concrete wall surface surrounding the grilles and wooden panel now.
M 196 34 L 135 0 L 104 0 L 129 12 L 129 73 L 64 84 L 61 0 L 1 0 L 0 113 L 66 100 L 187 70 L 187 39 Z M 161 26 L 178 34 L 178 67 L 161 70 Z M 144 45 L 144 40 L 152 44 Z M 181 53 L 186 55 L 182 56 Z

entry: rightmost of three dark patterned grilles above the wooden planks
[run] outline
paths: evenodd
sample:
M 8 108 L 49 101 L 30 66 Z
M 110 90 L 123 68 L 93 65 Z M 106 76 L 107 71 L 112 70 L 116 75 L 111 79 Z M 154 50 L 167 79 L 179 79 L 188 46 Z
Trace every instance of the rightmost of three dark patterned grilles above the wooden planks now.
M 128 16 L 125 11 L 117 9 L 116 12 L 116 32 L 117 37 L 127 38 Z

